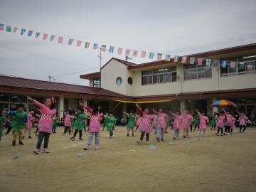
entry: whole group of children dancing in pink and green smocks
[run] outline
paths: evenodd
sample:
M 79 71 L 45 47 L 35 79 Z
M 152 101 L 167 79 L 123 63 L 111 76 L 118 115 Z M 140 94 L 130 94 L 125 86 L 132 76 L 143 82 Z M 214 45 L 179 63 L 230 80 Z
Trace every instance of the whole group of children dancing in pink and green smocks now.
M 57 126 L 57 121 L 55 120 L 55 99 L 53 97 L 46 99 L 45 104 L 42 104 L 36 100 L 33 100 L 31 97 L 27 97 L 28 100 L 33 102 L 37 107 L 40 108 L 41 116 L 38 122 L 38 142 L 36 144 L 36 149 L 33 151 L 35 154 L 41 153 L 41 144 L 43 144 L 43 152 L 48 153 L 48 142 L 51 132 L 55 132 L 55 127 Z M 154 129 L 156 133 L 156 141 L 164 142 L 164 133 L 166 133 L 169 116 L 159 109 L 158 111 L 152 109 L 149 112 L 149 107 L 140 107 L 136 105 L 139 115 L 134 112 L 123 112 L 127 114 L 128 123 L 127 123 L 127 137 L 129 137 L 130 132 L 132 131 L 132 137 L 134 137 L 134 128 L 137 127 L 139 132 L 141 132 L 138 144 L 142 144 L 144 136 L 146 136 L 146 144 L 149 144 L 149 136 L 152 130 Z M 26 111 L 24 110 L 26 108 Z M 114 117 L 114 113 L 110 112 L 107 115 L 103 115 L 100 109 L 100 105 L 95 102 L 92 108 L 87 105 L 83 105 L 80 102 L 80 107 L 78 112 L 75 113 L 71 110 L 63 112 L 65 115 L 65 129 L 63 135 L 66 132 L 71 134 L 71 129 L 74 129 L 73 137 L 70 137 L 72 141 L 75 140 L 76 135 L 79 132 L 79 139 L 82 140 L 82 129 L 85 129 L 85 118 L 84 109 L 90 114 L 90 124 L 88 127 L 87 142 L 84 149 L 90 149 L 92 145 L 92 139 L 95 137 L 95 149 L 99 149 L 100 144 L 100 122 L 105 118 L 105 127 L 107 131 L 110 132 L 110 138 L 113 137 L 114 125 L 117 122 L 117 119 Z M 27 106 L 18 105 L 17 111 L 6 112 L 11 116 L 11 129 L 13 131 L 12 145 L 16 145 L 16 140 L 18 137 L 18 144 L 23 145 L 23 138 L 25 137 L 26 132 L 28 132 L 28 137 L 31 138 L 31 127 L 35 117 L 33 115 L 35 112 L 29 111 Z M 174 137 L 173 139 L 179 139 L 179 132 L 183 129 L 183 138 L 189 137 L 189 129 L 192 131 L 192 126 L 195 125 L 195 128 L 198 127 L 198 133 L 196 137 L 205 137 L 206 127 L 209 122 L 208 117 L 206 117 L 204 112 L 199 112 L 196 110 L 196 117 L 193 117 L 188 110 L 183 110 L 183 112 L 171 112 L 169 114 L 174 118 Z M 247 117 L 245 113 L 241 112 L 240 115 L 240 132 L 245 132 Z M 0 139 L 3 136 L 3 124 L 5 118 L 0 111 Z M 216 135 L 227 135 L 232 134 L 233 129 L 235 128 L 235 118 L 230 114 L 230 112 L 215 113 L 214 116 L 210 119 L 211 129 L 217 127 Z M 23 133 L 23 129 L 25 132 Z M 86 131 L 86 129 L 85 129 Z

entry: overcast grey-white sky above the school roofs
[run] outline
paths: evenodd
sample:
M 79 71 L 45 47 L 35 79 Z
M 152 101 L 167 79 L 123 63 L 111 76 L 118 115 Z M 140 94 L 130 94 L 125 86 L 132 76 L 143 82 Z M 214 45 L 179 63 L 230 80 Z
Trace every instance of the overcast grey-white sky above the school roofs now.
M 0 73 L 22 78 L 87 85 L 79 75 L 100 69 L 96 50 L 107 46 L 184 55 L 256 43 L 256 1 L 0 1 Z M 20 28 L 63 36 L 63 44 L 20 35 Z M 242 38 L 239 38 L 242 37 Z M 83 41 L 68 46 L 68 38 Z M 116 51 L 116 50 L 115 50 Z M 102 63 L 124 55 L 103 53 Z M 154 58 L 156 59 L 156 58 Z M 133 58 L 143 63 L 148 58 Z

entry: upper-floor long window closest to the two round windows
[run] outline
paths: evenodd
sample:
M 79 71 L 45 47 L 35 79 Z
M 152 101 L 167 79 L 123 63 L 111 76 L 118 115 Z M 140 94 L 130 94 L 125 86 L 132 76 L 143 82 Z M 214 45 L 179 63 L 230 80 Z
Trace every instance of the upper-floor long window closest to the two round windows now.
M 175 81 L 176 67 L 142 71 L 142 85 Z

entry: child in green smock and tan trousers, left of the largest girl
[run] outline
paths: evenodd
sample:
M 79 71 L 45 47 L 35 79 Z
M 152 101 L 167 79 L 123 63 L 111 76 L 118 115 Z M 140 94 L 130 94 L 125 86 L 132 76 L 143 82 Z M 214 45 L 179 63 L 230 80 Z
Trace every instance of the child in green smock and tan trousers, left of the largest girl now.
M 11 126 L 14 132 L 14 137 L 12 140 L 12 146 L 16 145 L 16 139 L 18 137 L 18 144 L 24 145 L 22 141 L 23 129 L 26 127 L 28 121 L 28 114 L 24 112 L 24 105 L 19 104 L 16 112 L 8 112 L 11 115 Z

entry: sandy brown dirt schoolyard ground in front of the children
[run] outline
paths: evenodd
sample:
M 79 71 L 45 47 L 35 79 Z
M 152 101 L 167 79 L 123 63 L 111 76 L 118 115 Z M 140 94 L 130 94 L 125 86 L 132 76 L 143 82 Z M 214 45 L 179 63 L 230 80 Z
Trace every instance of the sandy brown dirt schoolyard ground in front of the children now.
M 217 137 L 171 139 L 139 146 L 117 127 L 114 138 L 100 134 L 100 149 L 84 151 L 84 141 L 50 136 L 49 154 L 34 155 L 36 136 L 24 146 L 11 146 L 11 135 L 0 142 L 0 191 L 256 191 L 256 129 Z M 150 148 L 151 144 L 156 149 Z M 18 158 L 14 159 L 15 156 Z

